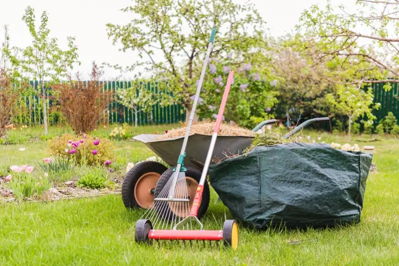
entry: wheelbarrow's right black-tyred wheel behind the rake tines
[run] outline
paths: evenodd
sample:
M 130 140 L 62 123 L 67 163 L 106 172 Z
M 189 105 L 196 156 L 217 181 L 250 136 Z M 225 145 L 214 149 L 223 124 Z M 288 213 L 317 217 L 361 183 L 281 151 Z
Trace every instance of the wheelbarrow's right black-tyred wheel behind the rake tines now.
M 165 185 L 168 183 L 169 179 L 172 177 L 173 175 L 173 169 L 175 167 L 169 168 L 167 171 L 165 171 L 162 176 L 159 178 L 157 186 L 155 187 L 155 192 L 154 192 L 154 198 L 157 198 L 162 189 L 165 187 Z M 190 208 L 192 206 L 192 201 L 194 200 L 195 197 L 195 193 L 197 191 L 198 188 L 198 184 L 200 183 L 200 179 L 201 179 L 201 171 L 198 170 L 197 168 L 194 167 L 186 167 L 187 171 L 186 171 L 186 182 L 188 184 L 188 190 L 191 192 L 189 193 L 191 195 L 191 201 L 190 201 Z M 191 182 L 189 182 L 191 181 Z M 194 182 L 195 181 L 195 182 Z M 196 183 L 196 184 L 193 184 Z M 190 187 L 193 186 L 193 187 Z M 200 220 L 202 218 L 202 216 L 206 213 L 208 206 L 209 206 L 209 200 L 210 200 L 210 192 L 209 192 L 209 185 L 208 182 L 205 181 L 205 184 L 203 186 L 203 192 L 202 192 L 202 199 L 201 199 L 201 204 L 200 204 L 200 208 L 198 209 L 198 216 L 197 218 Z M 158 206 L 157 206 L 158 204 Z M 161 207 L 162 206 L 162 207 Z M 162 202 L 156 202 L 155 208 L 161 208 L 164 209 L 165 204 L 162 204 Z M 168 208 L 170 206 L 168 205 Z M 170 208 L 169 208 L 170 210 Z M 172 213 L 172 212 L 163 212 L 168 214 L 167 217 L 163 217 L 164 220 L 168 220 L 171 221 L 172 219 L 175 219 L 176 216 Z M 188 210 L 188 213 L 190 213 L 190 210 Z M 187 215 L 182 215 L 180 216 L 180 218 L 185 218 Z M 179 219 L 179 217 L 178 217 Z

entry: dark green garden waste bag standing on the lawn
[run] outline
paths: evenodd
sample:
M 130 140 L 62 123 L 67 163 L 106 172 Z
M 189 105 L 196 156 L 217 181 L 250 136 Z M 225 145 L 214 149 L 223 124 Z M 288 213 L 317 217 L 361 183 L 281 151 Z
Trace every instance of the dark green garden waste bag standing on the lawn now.
M 209 167 L 209 181 L 233 217 L 258 229 L 360 222 L 373 156 L 328 144 L 256 147 Z

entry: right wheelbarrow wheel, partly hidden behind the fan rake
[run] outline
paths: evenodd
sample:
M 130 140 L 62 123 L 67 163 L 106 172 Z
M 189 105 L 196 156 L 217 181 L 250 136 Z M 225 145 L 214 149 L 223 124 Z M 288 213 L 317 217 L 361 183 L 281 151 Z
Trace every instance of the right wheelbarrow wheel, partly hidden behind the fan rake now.
M 169 179 L 172 177 L 175 167 L 169 168 L 167 171 L 165 171 L 162 176 L 159 178 L 157 186 L 155 187 L 155 192 L 154 192 L 154 198 L 157 198 L 160 194 L 162 189 L 165 187 L 165 185 L 168 183 Z M 168 217 L 164 217 L 165 220 L 172 221 L 173 219 L 176 218 L 176 216 L 179 218 L 186 218 L 190 214 L 191 207 L 193 206 L 193 201 L 196 196 L 198 184 L 200 183 L 201 179 L 201 171 L 198 170 L 197 168 L 194 167 L 186 167 L 186 184 L 187 184 L 187 192 L 188 195 L 186 197 L 190 200 L 189 203 L 189 208 L 185 209 L 177 209 L 175 211 L 175 208 L 171 206 L 171 204 L 176 204 L 176 203 L 170 203 L 168 205 L 168 208 L 171 212 L 163 212 L 165 214 L 168 214 Z M 210 200 L 210 192 L 209 192 L 209 186 L 208 182 L 205 181 L 205 184 L 203 186 L 203 192 L 202 192 L 202 200 L 200 204 L 200 208 L 198 209 L 198 219 L 201 219 L 202 216 L 206 213 L 208 206 L 209 206 L 209 200 Z M 157 204 L 157 202 L 156 202 Z M 164 206 L 164 204 L 160 203 L 160 206 Z M 177 204 L 176 207 L 179 208 L 181 205 Z M 155 208 L 157 208 L 157 205 L 155 205 Z M 162 207 L 164 208 L 164 207 Z M 180 207 L 181 208 L 181 207 Z M 176 212 L 176 213 L 174 213 Z M 171 215 L 170 215 L 171 214 Z

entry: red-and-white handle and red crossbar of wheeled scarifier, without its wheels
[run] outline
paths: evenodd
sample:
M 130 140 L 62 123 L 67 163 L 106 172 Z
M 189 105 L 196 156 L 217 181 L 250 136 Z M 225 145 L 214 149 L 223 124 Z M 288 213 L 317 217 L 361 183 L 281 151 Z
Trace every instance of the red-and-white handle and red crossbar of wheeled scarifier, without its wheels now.
M 228 75 L 227 78 L 227 83 L 226 87 L 224 89 L 223 93 L 223 98 L 221 100 L 220 108 L 219 108 L 219 113 L 217 115 L 216 119 L 216 124 L 215 128 L 213 130 L 213 135 L 212 135 L 212 140 L 213 144 L 211 141 L 209 151 L 208 153 L 210 156 L 212 155 L 213 152 L 213 147 L 214 147 L 214 141 L 216 140 L 217 133 L 219 131 L 220 123 L 223 118 L 223 112 L 224 112 L 224 107 L 227 102 L 227 96 L 230 91 L 231 83 L 233 82 L 233 76 L 234 72 L 230 71 L 230 74 Z M 210 161 L 210 157 L 207 158 L 207 161 Z M 201 176 L 201 181 L 202 179 L 206 178 L 206 173 L 208 170 L 209 162 L 205 161 L 205 165 L 203 168 L 203 173 Z M 194 219 L 199 222 L 197 219 L 198 215 L 198 209 L 200 208 L 201 204 L 201 199 L 202 199 L 202 192 L 203 192 L 203 183 L 201 183 L 197 187 L 197 192 L 196 196 L 193 201 L 193 206 L 191 207 L 190 215 L 186 217 L 186 219 Z M 203 181 L 202 181 L 203 182 Z M 185 220 L 186 220 L 185 219 Z M 199 222 L 200 223 L 200 222 Z M 202 225 L 201 225 L 202 228 Z M 174 230 L 150 230 L 148 233 L 148 239 L 153 239 L 153 240 L 206 240 L 206 241 L 221 241 L 223 240 L 223 231 L 212 231 L 212 230 L 176 230 L 176 227 Z

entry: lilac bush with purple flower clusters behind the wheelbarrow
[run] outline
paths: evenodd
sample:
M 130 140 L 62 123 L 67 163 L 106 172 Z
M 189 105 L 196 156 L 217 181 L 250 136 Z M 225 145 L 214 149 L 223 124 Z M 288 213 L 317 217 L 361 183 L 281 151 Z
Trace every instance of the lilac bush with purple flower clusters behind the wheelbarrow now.
M 268 77 L 254 69 L 250 62 L 234 66 L 231 60 L 227 57 L 223 63 L 212 61 L 209 64 L 210 77 L 207 78 L 208 82 L 203 83 L 198 106 L 199 116 L 217 116 L 228 73 L 234 70 L 234 80 L 228 96 L 230 100 L 226 103 L 224 119 L 242 127 L 252 128 L 270 117 L 267 112 L 277 103 L 278 92 L 270 84 Z

